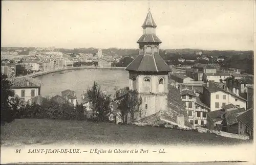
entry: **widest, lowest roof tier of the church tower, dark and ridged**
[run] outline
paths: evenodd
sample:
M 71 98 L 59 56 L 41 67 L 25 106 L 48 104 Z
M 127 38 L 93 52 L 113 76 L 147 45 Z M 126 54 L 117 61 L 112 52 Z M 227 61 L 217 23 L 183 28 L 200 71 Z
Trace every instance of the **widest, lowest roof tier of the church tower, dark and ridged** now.
M 170 72 L 160 55 L 138 55 L 125 70 L 137 72 Z

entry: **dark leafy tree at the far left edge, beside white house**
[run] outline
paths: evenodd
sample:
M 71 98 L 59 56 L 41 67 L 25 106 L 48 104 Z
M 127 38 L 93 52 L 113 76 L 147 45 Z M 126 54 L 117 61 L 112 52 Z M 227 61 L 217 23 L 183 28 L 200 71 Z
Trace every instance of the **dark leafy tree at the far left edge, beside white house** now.
M 12 83 L 6 75 L 1 75 L 1 122 L 10 123 L 14 120 L 10 105 L 10 97 L 14 97 L 14 91 L 10 89 Z

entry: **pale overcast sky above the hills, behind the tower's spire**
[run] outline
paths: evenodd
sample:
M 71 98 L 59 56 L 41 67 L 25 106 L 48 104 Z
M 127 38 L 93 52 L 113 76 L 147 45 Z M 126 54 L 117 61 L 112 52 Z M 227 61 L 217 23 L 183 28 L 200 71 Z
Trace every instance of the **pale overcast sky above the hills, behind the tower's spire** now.
M 150 1 L 161 49 L 253 50 L 254 1 Z M 148 1 L 2 1 L 2 46 L 138 48 Z

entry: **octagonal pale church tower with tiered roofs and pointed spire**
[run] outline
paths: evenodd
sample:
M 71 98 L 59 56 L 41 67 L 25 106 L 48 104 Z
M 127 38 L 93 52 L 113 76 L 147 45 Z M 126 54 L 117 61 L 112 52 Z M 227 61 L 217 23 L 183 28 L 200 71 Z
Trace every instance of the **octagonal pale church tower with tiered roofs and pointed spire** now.
M 142 98 L 143 117 L 167 109 L 169 66 L 159 55 L 161 40 L 156 35 L 156 23 L 148 10 L 142 25 L 143 34 L 137 41 L 139 55 L 125 68 L 129 71 L 129 88 Z

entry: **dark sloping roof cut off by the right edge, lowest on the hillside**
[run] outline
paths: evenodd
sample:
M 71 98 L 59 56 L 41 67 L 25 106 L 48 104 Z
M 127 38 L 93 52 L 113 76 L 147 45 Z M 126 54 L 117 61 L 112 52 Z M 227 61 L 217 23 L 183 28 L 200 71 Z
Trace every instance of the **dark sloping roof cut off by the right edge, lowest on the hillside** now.
M 253 109 L 249 109 L 236 117 L 240 122 L 253 131 Z

